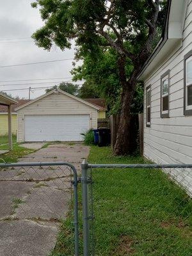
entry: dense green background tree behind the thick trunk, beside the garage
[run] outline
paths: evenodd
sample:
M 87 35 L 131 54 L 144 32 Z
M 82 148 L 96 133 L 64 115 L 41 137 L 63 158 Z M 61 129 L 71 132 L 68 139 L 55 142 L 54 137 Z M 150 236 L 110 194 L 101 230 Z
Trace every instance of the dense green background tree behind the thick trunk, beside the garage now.
M 116 114 L 120 111 L 120 94 L 122 86 L 118 77 L 116 61 L 118 54 L 109 46 L 102 46 L 97 51 L 97 58 L 92 52 L 79 52 L 78 58 L 83 60 L 81 67 L 72 70 L 75 81 L 85 79 L 86 83 L 81 91 L 85 93 L 92 90 L 95 94 L 106 99 L 109 114 Z M 81 54 L 81 55 L 80 55 Z M 126 75 L 131 74 L 131 61 L 127 60 Z

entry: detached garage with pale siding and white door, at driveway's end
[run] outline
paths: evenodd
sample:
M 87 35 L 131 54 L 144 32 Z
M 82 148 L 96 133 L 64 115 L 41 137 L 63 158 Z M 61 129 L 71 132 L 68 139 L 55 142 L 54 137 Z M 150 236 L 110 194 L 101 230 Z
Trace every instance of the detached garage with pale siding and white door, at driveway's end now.
M 17 110 L 18 142 L 82 141 L 97 128 L 99 107 L 61 90 L 52 90 Z

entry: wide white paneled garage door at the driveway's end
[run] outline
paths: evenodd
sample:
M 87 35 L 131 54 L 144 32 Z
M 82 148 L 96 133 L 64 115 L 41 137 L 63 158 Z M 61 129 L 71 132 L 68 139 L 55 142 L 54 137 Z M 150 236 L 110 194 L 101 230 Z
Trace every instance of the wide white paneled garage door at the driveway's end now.
M 89 115 L 26 115 L 25 141 L 81 141 Z

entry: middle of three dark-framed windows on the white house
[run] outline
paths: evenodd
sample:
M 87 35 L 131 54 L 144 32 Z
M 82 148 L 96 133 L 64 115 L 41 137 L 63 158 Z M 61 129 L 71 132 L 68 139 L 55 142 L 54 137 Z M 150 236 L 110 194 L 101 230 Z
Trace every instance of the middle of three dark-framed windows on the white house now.
M 161 118 L 169 116 L 170 108 L 170 70 L 161 76 Z

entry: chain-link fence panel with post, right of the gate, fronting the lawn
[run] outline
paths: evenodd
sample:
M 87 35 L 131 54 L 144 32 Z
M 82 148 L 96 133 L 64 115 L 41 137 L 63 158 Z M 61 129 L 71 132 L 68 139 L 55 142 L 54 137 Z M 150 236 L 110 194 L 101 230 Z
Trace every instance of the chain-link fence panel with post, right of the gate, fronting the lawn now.
M 84 162 L 84 256 L 192 255 L 191 168 Z

